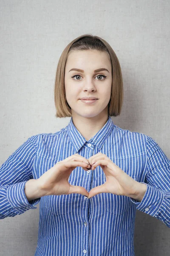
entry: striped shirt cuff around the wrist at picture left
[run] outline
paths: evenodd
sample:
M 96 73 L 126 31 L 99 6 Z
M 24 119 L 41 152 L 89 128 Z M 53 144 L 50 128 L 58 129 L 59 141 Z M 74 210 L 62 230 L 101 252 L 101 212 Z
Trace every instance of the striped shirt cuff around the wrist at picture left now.
M 23 181 L 20 183 L 13 184 L 8 186 L 6 193 L 7 193 L 7 200 L 11 204 L 11 206 L 22 214 L 28 209 L 37 209 L 34 205 L 38 204 L 40 198 L 34 199 L 28 202 L 25 194 L 25 184 L 27 181 Z

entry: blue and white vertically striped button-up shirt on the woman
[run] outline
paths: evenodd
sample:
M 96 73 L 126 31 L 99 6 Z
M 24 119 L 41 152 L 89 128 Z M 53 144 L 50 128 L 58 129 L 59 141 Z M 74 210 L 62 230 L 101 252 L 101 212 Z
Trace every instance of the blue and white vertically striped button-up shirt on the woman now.
M 133 198 L 100 193 L 48 195 L 29 201 L 24 187 L 72 154 L 85 158 L 101 152 L 134 180 L 145 183 L 141 202 Z M 86 172 L 77 167 L 71 185 L 89 192 L 105 183 L 100 166 Z M 111 116 L 89 141 L 69 124 L 60 131 L 34 135 L 0 167 L 0 218 L 36 209 L 40 202 L 40 226 L 34 256 L 134 256 L 133 232 L 136 209 L 170 227 L 170 160 L 151 137 L 123 130 Z

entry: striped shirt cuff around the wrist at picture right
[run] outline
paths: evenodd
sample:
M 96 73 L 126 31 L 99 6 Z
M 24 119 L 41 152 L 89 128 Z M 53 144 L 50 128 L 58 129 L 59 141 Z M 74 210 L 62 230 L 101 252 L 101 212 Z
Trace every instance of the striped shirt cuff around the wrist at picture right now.
M 139 202 L 133 198 L 130 198 L 130 200 L 136 204 L 136 209 L 145 212 L 153 217 L 158 213 L 163 200 L 164 200 L 164 193 L 156 188 L 153 187 L 147 183 L 141 182 L 143 184 L 147 185 L 147 190 L 144 194 L 144 197 L 142 198 L 142 201 Z

